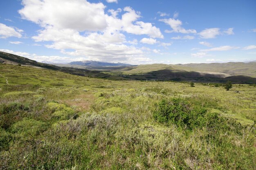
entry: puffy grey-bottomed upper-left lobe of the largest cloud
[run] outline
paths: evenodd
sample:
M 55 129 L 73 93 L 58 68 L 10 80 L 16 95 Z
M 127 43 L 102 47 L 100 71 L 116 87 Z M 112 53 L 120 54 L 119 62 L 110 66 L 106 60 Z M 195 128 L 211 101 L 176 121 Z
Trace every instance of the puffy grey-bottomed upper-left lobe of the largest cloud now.
M 24 8 L 18 12 L 22 19 L 40 26 L 77 31 L 102 31 L 107 21 L 102 3 L 86 0 L 22 0 Z

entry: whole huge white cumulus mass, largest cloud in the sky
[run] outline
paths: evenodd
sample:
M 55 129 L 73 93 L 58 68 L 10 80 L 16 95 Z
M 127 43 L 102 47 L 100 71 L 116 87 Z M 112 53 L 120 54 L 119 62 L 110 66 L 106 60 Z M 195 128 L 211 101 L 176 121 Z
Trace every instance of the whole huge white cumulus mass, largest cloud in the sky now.
M 105 13 L 101 2 L 86 0 L 22 0 L 22 5 L 22 18 L 42 27 L 32 39 L 49 42 L 47 48 L 58 49 L 65 55 L 109 62 L 148 60 L 141 49 L 133 46 L 137 40 L 126 41 L 123 32 L 164 38 L 159 28 L 139 21 L 140 13 L 131 7 Z M 121 11 L 124 13 L 119 17 Z

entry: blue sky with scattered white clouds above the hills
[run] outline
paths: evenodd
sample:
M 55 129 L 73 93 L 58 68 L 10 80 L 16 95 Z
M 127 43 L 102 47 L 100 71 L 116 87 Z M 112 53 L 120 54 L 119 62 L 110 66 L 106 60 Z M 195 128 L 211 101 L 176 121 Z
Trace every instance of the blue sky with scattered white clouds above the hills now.
M 38 62 L 256 60 L 256 0 L 0 0 L 0 51 Z

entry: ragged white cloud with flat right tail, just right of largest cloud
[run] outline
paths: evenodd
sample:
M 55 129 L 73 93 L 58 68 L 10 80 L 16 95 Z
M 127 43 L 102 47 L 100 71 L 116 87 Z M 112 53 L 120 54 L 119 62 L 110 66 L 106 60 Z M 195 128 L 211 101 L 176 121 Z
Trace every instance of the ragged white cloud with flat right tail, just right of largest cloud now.
M 196 33 L 195 29 L 184 29 L 182 28 L 182 22 L 180 20 L 175 20 L 173 18 L 169 19 L 161 19 L 159 21 L 162 21 L 168 25 L 171 26 L 173 30 L 165 30 L 166 33 Z

